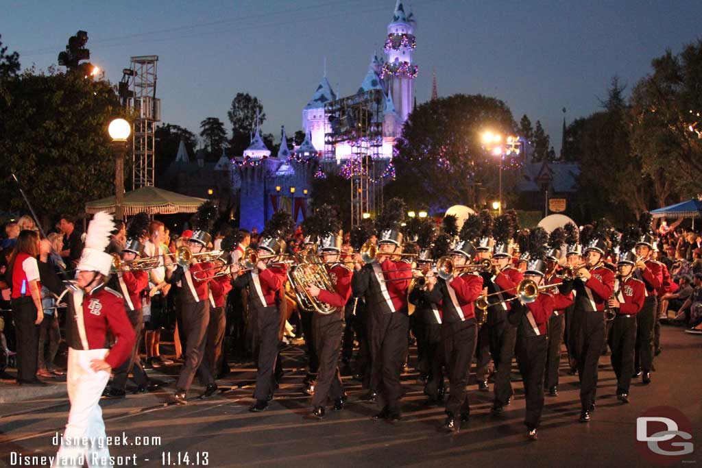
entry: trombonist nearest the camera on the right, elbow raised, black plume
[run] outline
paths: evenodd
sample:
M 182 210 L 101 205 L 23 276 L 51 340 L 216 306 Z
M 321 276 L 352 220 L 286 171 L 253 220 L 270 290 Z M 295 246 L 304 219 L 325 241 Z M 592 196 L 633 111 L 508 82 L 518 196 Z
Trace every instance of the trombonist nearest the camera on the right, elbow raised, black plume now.
M 534 281 L 537 288 L 540 288 L 547 268 L 541 260 L 546 232 L 537 227 L 531 231 L 530 236 L 531 248 L 524 280 Z M 522 297 L 519 297 L 510 311 L 510 321 L 517 325 L 516 354 L 527 406 L 524 425 L 527 426 L 527 436 L 533 441 L 537 439 L 543 411 L 542 382 L 549 339 L 546 335 L 547 323 L 555 309 L 565 309 L 573 302 L 571 287 L 572 283 L 567 281 L 560 291 L 555 288 L 549 292 L 537 290 L 534 302 L 524 303 Z

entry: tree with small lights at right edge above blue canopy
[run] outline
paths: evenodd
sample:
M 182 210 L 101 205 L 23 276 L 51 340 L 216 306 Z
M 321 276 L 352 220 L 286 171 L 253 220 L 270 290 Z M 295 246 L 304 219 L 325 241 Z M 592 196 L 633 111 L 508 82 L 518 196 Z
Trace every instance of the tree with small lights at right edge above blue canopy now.
M 655 58 L 633 89 L 632 149 L 654 182 L 656 206 L 699 192 L 702 171 L 702 39 Z

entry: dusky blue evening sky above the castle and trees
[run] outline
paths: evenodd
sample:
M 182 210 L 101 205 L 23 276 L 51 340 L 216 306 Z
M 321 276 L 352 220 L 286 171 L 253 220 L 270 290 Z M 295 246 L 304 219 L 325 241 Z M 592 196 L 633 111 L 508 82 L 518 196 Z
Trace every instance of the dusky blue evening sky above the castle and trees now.
M 381 51 L 395 0 L 4 2 L 2 41 L 24 67 L 46 69 L 78 29 L 110 81 L 131 55 L 159 55 L 163 120 L 199 133 L 239 91 L 258 96 L 278 135 L 300 129 L 301 109 L 322 77 L 354 93 Z M 439 95 L 501 98 L 515 120 L 541 120 L 559 149 L 567 120 L 598 109 L 618 74 L 631 88 L 651 59 L 700 34 L 699 1 L 413 0 L 418 102 Z M 175 155 L 174 155 L 175 156 Z

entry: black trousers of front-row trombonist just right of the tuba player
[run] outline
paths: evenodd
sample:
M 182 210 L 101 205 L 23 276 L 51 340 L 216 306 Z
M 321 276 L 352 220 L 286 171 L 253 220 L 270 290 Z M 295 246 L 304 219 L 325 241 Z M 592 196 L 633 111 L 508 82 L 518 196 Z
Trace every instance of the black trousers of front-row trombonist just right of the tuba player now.
M 399 376 L 407 350 L 408 330 L 409 317 L 404 310 L 371 316 L 371 389 L 378 392 L 380 408 L 387 408 L 390 413 L 400 410 Z

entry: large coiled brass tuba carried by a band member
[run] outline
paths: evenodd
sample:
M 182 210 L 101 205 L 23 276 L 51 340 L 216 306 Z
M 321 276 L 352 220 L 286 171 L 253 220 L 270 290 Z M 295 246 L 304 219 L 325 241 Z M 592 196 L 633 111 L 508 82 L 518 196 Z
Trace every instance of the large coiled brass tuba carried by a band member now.
M 310 253 L 309 250 L 303 250 L 299 255 L 298 263 L 291 265 L 288 269 L 288 281 L 290 281 L 296 302 L 301 309 L 322 315 L 333 314 L 336 312 L 336 307 L 320 301 L 319 297 L 312 297 L 305 289 L 309 286 L 317 286 L 319 289 L 330 291 L 335 289 L 324 265 L 319 261 L 314 261 L 314 258 L 316 255 Z

